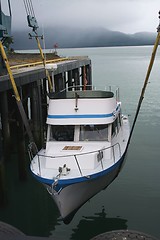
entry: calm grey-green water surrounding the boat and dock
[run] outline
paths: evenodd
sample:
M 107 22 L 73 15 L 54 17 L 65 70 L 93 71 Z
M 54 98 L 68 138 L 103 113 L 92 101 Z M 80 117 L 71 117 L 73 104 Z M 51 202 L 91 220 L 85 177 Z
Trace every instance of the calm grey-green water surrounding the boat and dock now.
M 120 87 L 123 112 L 132 123 L 148 68 L 152 47 L 60 49 L 61 56 L 89 56 L 93 83 Z M 132 229 L 160 238 L 160 52 L 119 177 L 87 202 L 69 225 L 43 187 L 30 174 L 18 180 L 16 162 L 9 162 L 9 201 L 0 209 L 0 221 L 27 235 L 56 240 L 90 239 L 100 233 Z

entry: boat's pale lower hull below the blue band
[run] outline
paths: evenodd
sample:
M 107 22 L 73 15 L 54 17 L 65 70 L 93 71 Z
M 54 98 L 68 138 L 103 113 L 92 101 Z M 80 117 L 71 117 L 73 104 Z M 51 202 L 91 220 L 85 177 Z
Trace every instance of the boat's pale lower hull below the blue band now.
M 54 191 L 51 195 L 54 199 L 62 219 L 69 223 L 77 210 L 86 203 L 91 197 L 105 189 L 119 174 L 124 156 L 116 163 L 110 172 L 95 179 L 87 179 L 85 182 L 71 184 L 63 188 L 59 193 Z M 45 185 L 49 192 L 52 187 Z

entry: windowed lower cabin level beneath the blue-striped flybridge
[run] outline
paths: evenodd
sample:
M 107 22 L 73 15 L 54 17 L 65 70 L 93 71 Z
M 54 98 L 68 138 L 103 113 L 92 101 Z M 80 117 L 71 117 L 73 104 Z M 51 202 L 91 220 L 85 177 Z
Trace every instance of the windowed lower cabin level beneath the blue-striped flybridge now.
M 48 125 L 47 141 L 108 141 L 118 134 L 122 125 L 120 113 L 109 124 Z

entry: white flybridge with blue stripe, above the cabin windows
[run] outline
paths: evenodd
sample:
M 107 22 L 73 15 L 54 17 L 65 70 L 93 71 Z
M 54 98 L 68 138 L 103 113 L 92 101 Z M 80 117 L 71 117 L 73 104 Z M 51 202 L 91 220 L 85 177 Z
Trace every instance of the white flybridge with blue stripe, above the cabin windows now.
M 108 124 L 120 108 L 111 91 L 61 91 L 49 97 L 47 124 L 51 125 Z

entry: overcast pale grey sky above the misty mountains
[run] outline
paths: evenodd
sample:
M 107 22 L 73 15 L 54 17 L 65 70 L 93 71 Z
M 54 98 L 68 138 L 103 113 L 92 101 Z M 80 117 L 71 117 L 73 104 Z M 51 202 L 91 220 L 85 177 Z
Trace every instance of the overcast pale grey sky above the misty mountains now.
M 27 27 L 23 0 L 10 0 L 13 29 Z M 31 1 L 31 0 L 30 0 Z M 1 0 L 2 7 L 7 0 Z M 125 33 L 155 32 L 160 0 L 32 0 L 39 27 L 104 27 Z M 5 7 L 4 7 L 5 8 Z

